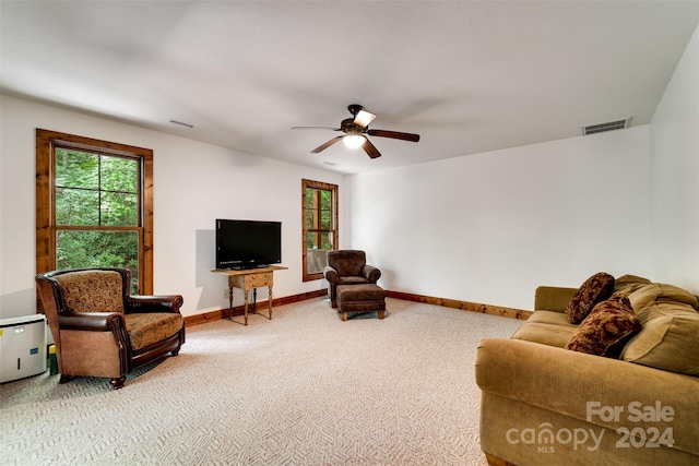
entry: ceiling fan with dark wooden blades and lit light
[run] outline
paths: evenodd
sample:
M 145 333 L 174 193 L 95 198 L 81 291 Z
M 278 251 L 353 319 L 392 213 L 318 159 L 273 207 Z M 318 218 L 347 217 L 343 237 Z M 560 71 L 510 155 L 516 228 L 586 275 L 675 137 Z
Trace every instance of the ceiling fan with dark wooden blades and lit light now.
M 378 138 L 391 138 L 401 141 L 411 141 L 417 142 L 419 141 L 419 134 L 413 133 L 402 133 L 399 131 L 389 131 L 389 130 L 370 130 L 369 123 L 374 121 L 376 115 L 370 113 L 363 109 L 363 107 L 358 104 L 352 104 L 347 107 L 350 113 L 352 113 L 352 118 L 347 118 L 342 120 L 340 123 L 340 128 L 332 127 L 293 127 L 293 130 L 306 130 L 306 129 L 321 129 L 321 130 L 332 130 L 332 131 L 342 131 L 344 134 L 339 135 L 336 138 L 331 139 L 330 141 L 319 145 L 315 150 L 311 151 L 312 154 L 318 154 L 340 140 L 344 140 L 345 144 L 348 147 L 362 147 L 364 152 L 371 158 L 377 158 L 381 156 L 381 153 L 376 148 L 376 146 L 369 141 L 367 135 L 378 136 Z

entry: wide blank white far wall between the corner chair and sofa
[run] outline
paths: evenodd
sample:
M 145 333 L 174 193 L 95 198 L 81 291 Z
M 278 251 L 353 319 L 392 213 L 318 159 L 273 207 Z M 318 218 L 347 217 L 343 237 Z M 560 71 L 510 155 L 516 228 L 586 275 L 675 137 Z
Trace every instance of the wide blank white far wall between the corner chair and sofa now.
M 649 131 L 352 176 L 352 246 L 387 289 L 519 309 L 538 285 L 648 276 Z

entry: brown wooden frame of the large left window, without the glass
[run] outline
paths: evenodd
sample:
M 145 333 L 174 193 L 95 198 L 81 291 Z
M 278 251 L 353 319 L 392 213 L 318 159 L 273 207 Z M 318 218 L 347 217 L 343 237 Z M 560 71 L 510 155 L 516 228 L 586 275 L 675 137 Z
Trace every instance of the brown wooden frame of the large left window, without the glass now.
M 140 160 L 138 227 L 80 226 L 66 230 L 139 230 L 139 292 L 153 294 L 153 151 L 57 131 L 36 130 L 36 273 L 56 268 L 56 148 Z

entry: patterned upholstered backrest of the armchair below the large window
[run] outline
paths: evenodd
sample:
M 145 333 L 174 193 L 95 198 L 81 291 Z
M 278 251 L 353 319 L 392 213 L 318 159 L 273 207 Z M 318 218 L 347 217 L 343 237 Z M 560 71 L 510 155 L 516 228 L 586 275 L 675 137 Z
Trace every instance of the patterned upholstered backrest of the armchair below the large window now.
M 54 278 L 61 286 L 67 311 L 123 314 L 123 282 L 118 272 L 80 271 Z

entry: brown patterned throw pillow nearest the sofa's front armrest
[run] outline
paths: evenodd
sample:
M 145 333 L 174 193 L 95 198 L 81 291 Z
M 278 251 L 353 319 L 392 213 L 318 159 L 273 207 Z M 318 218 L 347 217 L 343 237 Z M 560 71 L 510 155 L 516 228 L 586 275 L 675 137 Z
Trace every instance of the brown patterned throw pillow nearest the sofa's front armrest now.
M 615 292 L 594 307 L 572 334 L 566 349 L 618 358 L 624 345 L 640 330 L 641 323 L 629 299 Z

